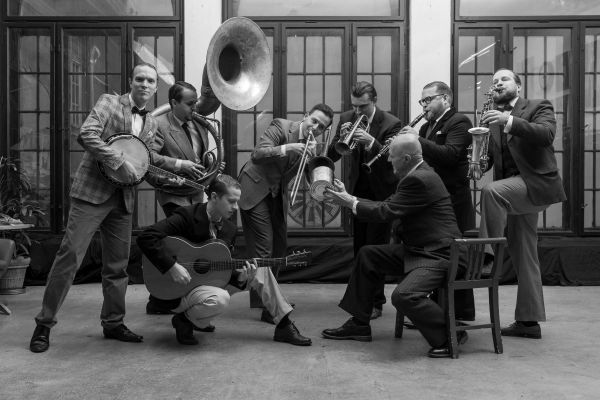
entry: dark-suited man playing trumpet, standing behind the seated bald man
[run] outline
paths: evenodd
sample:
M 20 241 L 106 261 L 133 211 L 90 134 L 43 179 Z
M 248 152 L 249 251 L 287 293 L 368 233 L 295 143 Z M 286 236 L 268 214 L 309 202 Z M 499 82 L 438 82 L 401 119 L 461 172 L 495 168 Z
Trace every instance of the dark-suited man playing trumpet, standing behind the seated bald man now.
M 340 115 L 340 122 L 327 157 L 332 161 L 350 155 L 350 169 L 344 173 L 349 193 L 354 196 L 383 201 L 390 196 L 398 183 L 390 163 L 382 159 L 373 163 L 371 171 L 363 163 L 379 153 L 386 141 L 394 136 L 402 123 L 392 114 L 376 106 L 377 91 L 369 82 L 357 82 L 352 87 L 352 110 Z M 384 244 L 390 239 L 387 222 L 361 221 L 353 218 L 354 256 L 366 244 Z M 383 288 L 375 295 L 373 318 L 381 316 L 385 295 Z

